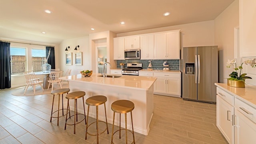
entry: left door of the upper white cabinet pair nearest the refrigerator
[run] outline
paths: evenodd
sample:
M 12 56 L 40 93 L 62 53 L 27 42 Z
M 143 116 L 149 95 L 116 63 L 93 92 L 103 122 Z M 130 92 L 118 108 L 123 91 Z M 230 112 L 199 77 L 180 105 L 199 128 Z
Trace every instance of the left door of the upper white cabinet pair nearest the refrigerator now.
M 166 59 L 166 33 L 154 34 L 154 59 Z

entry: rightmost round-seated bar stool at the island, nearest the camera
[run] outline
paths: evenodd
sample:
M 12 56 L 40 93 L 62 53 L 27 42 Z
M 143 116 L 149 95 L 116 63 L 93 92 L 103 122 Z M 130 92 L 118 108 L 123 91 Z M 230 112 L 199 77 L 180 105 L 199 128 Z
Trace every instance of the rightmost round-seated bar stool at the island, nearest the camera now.
M 114 144 L 113 142 L 113 136 L 116 132 L 119 131 L 119 138 L 121 138 L 121 130 L 125 130 L 125 140 L 127 144 L 127 117 L 126 113 L 131 112 L 131 120 L 132 120 L 132 110 L 134 109 L 134 103 L 129 100 L 117 100 L 111 104 L 111 109 L 114 111 L 113 116 L 113 127 L 112 127 L 112 136 L 111 136 L 111 144 Z M 115 122 L 115 113 L 120 114 L 120 122 L 119 122 L 119 130 L 116 130 L 114 132 L 114 122 Z M 125 115 L 125 128 L 121 129 L 121 114 Z M 133 130 L 133 123 L 132 123 L 132 131 L 129 130 L 129 132 L 132 133 L 133 141 L 132 144 L 135 144 L 135 138 L 134 138 L 134 130 Z

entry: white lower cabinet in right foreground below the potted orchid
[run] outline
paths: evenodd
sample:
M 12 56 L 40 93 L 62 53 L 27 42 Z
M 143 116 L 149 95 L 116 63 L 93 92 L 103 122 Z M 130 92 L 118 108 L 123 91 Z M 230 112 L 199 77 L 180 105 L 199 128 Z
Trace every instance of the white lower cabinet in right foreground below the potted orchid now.
M 246 90 L 219 83 L 216 86 L 218 86 L 216 118 L 220 132 L 229 144 L 255 144 L 256 106 L 247 103 L 250 99 L 242 98 L 253 98 L 255 88 Z

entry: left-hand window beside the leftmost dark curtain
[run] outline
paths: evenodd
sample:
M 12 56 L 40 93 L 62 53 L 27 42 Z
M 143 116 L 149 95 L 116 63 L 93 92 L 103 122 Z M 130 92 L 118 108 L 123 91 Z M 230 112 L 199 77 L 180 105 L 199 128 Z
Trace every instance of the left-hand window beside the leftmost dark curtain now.
M 11 74 L 20 74 L 26 71 L 26 48 L 10 48 Z

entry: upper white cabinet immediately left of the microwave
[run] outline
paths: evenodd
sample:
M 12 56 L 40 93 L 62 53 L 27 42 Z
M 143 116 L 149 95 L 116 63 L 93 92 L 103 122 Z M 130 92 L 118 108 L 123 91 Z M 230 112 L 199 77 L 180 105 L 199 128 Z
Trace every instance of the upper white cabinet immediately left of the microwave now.
M 124 60 L 124 38 L 114 38 L 114 60 Z

